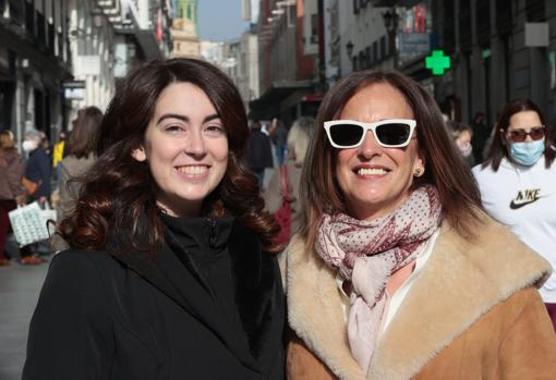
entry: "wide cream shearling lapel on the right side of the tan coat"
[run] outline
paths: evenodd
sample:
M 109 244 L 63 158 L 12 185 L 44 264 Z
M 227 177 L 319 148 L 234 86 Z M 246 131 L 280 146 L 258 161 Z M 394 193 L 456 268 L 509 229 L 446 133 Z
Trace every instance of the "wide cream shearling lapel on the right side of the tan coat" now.
M 470 243 L 443 226 L 433 255 L 378 343 L 368 379 L 413 377 L 495 305 L 546 280 L 549 265 L 508 230 L 488 220 L 482 232 Z

